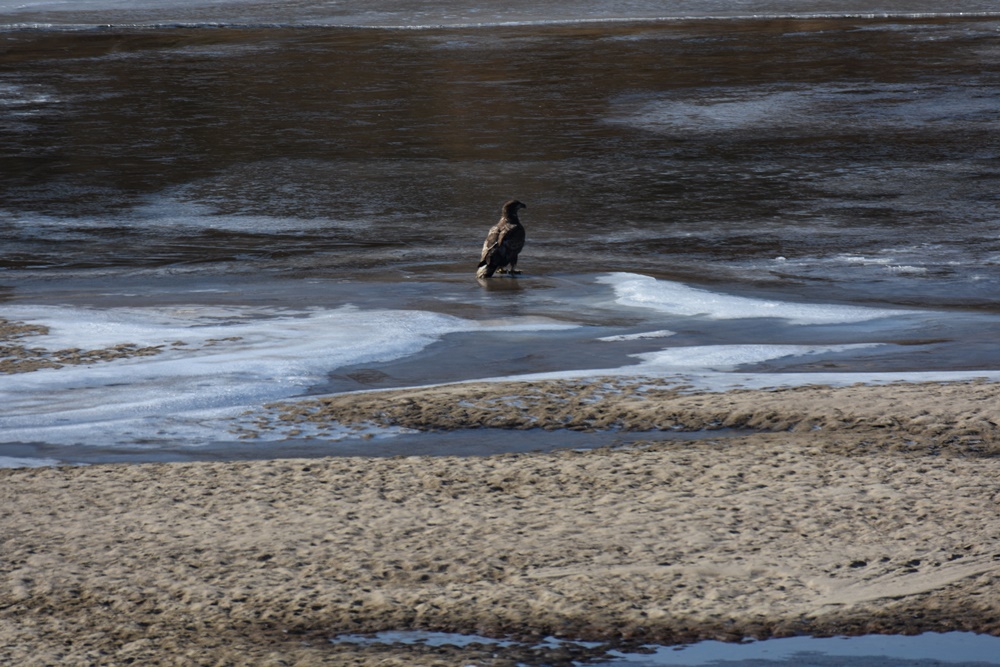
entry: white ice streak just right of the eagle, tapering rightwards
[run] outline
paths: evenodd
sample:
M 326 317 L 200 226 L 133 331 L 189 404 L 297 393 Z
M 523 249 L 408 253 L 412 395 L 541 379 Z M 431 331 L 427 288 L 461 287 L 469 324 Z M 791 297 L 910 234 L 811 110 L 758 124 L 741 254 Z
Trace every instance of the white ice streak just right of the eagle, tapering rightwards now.
M 753 299 L 634 273 L 613 273 L 598 280 L 614 288 L 617 301 L 622 305 L 653 308 L 686 317 L 720 320 L 769 317 L 788 320 L 792 324 L 848 324 L 916 312 Z

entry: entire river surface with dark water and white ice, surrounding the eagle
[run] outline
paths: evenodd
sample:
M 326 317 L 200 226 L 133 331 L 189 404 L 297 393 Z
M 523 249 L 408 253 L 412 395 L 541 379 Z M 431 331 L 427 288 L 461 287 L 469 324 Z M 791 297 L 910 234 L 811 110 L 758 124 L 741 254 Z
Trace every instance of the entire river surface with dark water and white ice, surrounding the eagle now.
M 995 2 L 661 5 L 0 0 L 0 318 L 159 346 L 0 376 L 0 456 L 530 373 L 1000 371 Z M 477 282 L 511 197 L 523 274 Z

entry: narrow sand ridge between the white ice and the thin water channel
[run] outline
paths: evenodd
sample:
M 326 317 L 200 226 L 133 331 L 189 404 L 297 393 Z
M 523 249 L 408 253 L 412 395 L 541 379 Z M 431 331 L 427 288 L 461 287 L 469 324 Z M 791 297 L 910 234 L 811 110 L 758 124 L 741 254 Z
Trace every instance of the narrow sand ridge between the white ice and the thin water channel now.
M 263 428 L 302 424 L 573 430 L 866 431 L 885 446 L 1000 451 L 1000 384 L 690 392 L 661 379 L 460 383 L 270 406 Z

